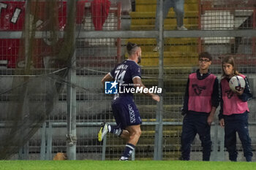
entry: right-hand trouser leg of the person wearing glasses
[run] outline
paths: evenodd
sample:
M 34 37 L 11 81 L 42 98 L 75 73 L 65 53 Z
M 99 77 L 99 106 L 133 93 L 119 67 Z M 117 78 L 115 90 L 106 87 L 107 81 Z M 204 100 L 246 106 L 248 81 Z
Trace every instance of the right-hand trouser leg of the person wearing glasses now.
M 203 161 L 210 161 L 211 156 L 211 126 L 207 123 L 208 115 L 200 115 L 197 121 L 197 133 L 203 147 Z

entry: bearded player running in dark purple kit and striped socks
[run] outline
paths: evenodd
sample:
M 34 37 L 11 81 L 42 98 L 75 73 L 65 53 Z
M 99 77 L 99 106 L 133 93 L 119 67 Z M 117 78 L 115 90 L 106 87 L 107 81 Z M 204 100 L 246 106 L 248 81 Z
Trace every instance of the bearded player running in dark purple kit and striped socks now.
M 106 74 L 102 79 L 104 85 L 106 81 L 113 81 L 118 83 L 119 86 L 128 88 L 145 88 L 141 82 L 140 76 L 140 63 L 141 48 L 139 45 L 128 42 L 127 53 L 129 54 L 128 60 L 118 64 L 110 73 Z M 114 83 L 115 83 L 114 82 Z M 133 85 L 132 85 L 133 84 Z M 114 84 L 115 85 L 115 84 Z M 154 93 L 145 93 L 151 96 L 155 101 L 159 101 L 159 96 Z M 108 134 L 116 134 L 127 140 L 126 147 L 120 161 L 128 161 L 129 156 L 135 149 L 135 146 L 140 138 L 140 114 L 133 101 L 132 93 L 117 93 L 111 104 L 113 116 L 116 120 L 116 126 L 103 123 L 98 133 L 99 142 L 103 137 Z

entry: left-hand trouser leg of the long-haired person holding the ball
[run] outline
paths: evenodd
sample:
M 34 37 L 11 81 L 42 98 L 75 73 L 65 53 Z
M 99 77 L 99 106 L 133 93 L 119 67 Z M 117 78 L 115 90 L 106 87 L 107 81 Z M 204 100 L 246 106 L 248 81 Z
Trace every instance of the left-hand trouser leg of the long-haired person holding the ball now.
M 225 147 L 229 154 L 230 161 L 236 161 L 238 152 L 236 151 L 236 123 L 225 120 Z

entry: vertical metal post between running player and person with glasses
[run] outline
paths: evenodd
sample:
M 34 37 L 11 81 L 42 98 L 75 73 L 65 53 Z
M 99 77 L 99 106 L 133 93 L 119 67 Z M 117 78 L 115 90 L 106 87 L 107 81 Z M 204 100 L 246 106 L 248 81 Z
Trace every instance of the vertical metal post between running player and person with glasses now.
M 163 88 L 163 17 L 162 17 L 163 0 L 159 0 L 159 75 L 158 75 L 158 87 Z M 163 110 L 163 98 L 160 96 L 160 101 L 157 103 L 157 122 L 156 136 L 154 139 L 154 160 L 162 160 L 162 110 Z

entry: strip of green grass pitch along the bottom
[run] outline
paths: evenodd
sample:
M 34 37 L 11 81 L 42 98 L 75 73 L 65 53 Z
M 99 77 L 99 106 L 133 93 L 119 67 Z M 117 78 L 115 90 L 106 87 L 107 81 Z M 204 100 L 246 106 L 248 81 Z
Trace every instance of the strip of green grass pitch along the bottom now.
M 249 170 L 256 162 L 203 161 L 0 161 L 4 170 Z

